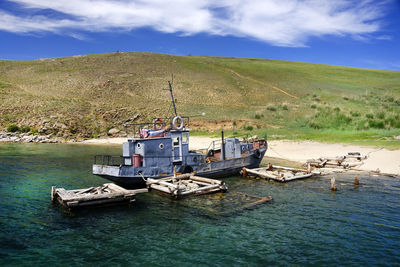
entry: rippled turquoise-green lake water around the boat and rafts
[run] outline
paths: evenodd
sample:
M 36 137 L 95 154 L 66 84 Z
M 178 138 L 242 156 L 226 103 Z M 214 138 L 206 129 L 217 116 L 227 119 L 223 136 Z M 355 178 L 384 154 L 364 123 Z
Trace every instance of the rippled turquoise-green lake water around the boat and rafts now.
M 130 206 L 65 212 L 52 185 L 100 185 L 92 156 L 118 147 L 0 145 L 0 265 L 399 265 L 400 179 L 336 175 L 286 184 L 241 177 L 183 200 L 141 194 Z M 274 197 L 252 199 L 238 191 Z

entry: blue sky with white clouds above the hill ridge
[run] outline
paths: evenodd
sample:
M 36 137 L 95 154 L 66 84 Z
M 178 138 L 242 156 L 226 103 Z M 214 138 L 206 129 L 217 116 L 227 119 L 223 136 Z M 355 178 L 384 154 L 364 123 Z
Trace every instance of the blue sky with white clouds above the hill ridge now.
M 400 0 L 0 0 L 0 59 L 116 51 L 400 71 Z

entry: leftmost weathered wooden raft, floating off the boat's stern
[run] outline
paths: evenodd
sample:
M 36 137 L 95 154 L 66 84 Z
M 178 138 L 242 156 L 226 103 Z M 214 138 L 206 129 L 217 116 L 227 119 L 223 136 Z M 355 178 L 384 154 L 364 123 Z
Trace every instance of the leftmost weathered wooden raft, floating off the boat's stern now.
M 100 206 L 117 203 L 132 203 L 136 194 L 148 192 L 147 188 L 127 190 L 113 183 L 85 189 L 65 190 L 51 187 L 51 200 L 58 201 L 68 209 L 84 206 Z

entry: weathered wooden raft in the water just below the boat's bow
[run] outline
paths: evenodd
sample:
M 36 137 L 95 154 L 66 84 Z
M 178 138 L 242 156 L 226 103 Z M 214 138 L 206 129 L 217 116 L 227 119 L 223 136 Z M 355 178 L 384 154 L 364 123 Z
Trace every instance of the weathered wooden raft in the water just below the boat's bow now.
M 310 169 L 296 169 L 282 166 L 274 166 L 269 164 L 268 167 L 248 169 L 243 168 L 241 171 L 243 177 L 256 176 L 267 180 L 274 180 L 278 182 L 289 182 L 297 179 L 309 178 L 316 173 L 311 172 Z

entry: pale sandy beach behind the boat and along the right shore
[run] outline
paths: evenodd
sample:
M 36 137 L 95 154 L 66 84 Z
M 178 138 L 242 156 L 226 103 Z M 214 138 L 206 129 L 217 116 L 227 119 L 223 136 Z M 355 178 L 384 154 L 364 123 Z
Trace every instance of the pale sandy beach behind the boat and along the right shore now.
M 190 137 L 190 149 L 207 148 L 211 141 L 219 140 L 210 137 Z M 117 145 L 126 141 L 126 138 L 105 138 L 83 141 L 85 144 Z M 281 158 L 300 163 L 308 159 L 320 157 L 335 157 L 346 155 L 348 152 L 360 152 L 368 158 L 357 169 L 363 171 L 379 171 L 381 173 L 400 175 L 400 150 L 387 150 L 379 147 L 363 147 L 345 144 L 326 144 L 313 141 L 269 141 L 269 148 L 264 157 Z

